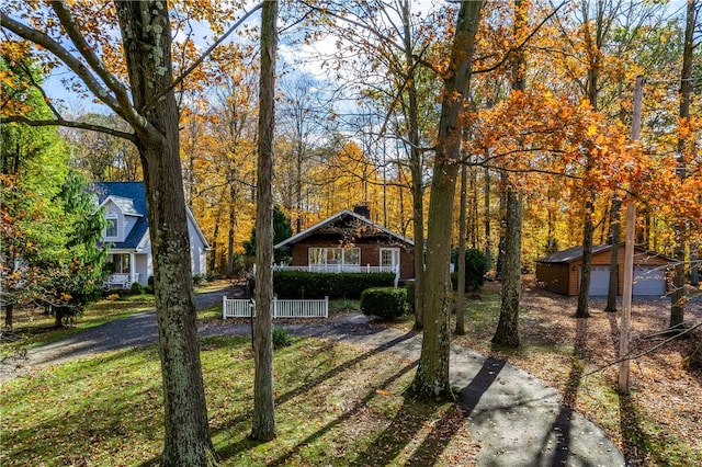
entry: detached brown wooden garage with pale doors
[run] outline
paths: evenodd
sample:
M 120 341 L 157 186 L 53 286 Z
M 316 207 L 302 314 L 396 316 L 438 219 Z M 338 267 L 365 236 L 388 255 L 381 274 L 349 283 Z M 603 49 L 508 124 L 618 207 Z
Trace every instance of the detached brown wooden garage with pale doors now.
M 590 296 L 607 296 L 610 282 L 611 244 L 592 248 Z M 618 295 L 624 289 L 624 244 L 618 248 Z M 666 294 L 666 267 L 672 260 L 654 251 L 634 249 L 633 295 L 663 296 Z M 563 295 L 578 295 L 582 267 L 582 247 L 574 247 L 536 260 L 536 281 L 547 291 Z

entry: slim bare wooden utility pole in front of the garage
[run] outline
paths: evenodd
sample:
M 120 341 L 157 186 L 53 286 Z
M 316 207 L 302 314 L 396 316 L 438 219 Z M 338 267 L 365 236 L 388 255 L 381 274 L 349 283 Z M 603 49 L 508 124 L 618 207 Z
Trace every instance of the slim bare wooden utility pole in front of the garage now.
M 634 117 L 632 119 L 632 139 L 638 140 L 641 133 L 641 105 L 644 94 L 644 77 L 636 77 L 634 90 Z M 629 394 L 629 374 L 631 360 L 629 358 L 629 342 L 632 328 L 632 292 L 634 288 L 634 241 L 636 239 L 636 205 L 634 196 L 629 194 L 626 204 L 626 241 L 624 246 L 624 296 L 622 308 L 621 335 L 619 339 L 619 390 Z

